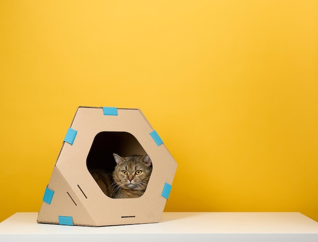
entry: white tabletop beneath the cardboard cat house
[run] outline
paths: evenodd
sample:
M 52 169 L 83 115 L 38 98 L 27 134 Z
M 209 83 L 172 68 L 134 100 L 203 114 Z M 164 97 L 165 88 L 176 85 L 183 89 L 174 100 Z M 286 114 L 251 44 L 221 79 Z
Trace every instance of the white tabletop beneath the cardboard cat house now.
M 0 241 L 318 241 L 318 223 L 300 213 L 164 213 L 160 223 L 107 227 L 38 224 L 37 213 L 0 223 Z

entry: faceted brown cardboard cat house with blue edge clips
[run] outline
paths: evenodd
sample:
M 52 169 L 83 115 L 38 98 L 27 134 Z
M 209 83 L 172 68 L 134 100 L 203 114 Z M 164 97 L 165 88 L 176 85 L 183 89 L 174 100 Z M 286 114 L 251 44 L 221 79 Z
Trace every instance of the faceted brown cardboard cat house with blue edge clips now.
M 138 198 L 106 196 L 89 172 L 114 169 L 112 154 L 145 155 L 152 173 Z M 37 221 L 107 226 L 159 222 L 177 164 L 139 109 L 79 107 L 45 189 Z

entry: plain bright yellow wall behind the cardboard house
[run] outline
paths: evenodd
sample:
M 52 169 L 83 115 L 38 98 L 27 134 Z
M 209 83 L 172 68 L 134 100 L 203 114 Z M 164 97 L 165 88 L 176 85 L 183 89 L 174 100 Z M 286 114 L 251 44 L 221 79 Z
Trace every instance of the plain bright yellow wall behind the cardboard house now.
M 318 221 L 318 1 L 1 1 L 0 221 L 38 211 L 78 106 L 140 108 L 165 211 Z

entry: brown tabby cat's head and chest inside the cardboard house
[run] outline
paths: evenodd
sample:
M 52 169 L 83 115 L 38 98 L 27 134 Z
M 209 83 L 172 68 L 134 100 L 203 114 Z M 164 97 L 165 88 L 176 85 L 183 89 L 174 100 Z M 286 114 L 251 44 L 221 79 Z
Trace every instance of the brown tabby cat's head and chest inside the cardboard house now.
M 117 163 L 113 171 L 112 198 L 137 198 L 144 194 L 152 172 L 152 162 L 146 154 L 120 157 L 113 154 Z

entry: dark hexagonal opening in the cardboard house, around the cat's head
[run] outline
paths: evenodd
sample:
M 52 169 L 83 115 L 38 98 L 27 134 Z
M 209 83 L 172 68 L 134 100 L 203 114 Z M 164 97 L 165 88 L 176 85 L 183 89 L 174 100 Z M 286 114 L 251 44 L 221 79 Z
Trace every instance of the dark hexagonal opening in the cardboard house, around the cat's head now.
M 121 157 L 146 154 L 135 136 L 128 132 L 104 131 L 94 137 L 86 159 L 86 166 L 100 189 L 110 198 L 113 198 L 116 191 L 112 176 L 117 164 L 114 153 Z M 140 196 L 137 195 L 137 197 Z

